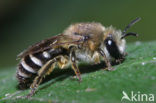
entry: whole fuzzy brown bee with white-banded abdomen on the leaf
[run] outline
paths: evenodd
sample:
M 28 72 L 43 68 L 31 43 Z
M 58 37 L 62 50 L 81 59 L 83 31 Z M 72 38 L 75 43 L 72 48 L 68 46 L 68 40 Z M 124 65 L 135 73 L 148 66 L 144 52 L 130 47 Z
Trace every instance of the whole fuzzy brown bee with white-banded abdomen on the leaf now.
M 127 30 L 140 19 L 131 21 L 123 32 L 97 22 L 76 23 L 63 33 L 30 46 L 18 55 L 20 63 L 16 75 L 19 88 L 30 87 L 27 97 L 33 96 L 43 78 L 51 74 L 56 66 L 64 69 L 71 65 L 79 81 L 82 80 L 79 62 L 104 61 L 106 70 L 114 70 L 111 62 L 121 63 L 125 59 L 125 37 L 138 36 L 137 33 L 127 33 Z

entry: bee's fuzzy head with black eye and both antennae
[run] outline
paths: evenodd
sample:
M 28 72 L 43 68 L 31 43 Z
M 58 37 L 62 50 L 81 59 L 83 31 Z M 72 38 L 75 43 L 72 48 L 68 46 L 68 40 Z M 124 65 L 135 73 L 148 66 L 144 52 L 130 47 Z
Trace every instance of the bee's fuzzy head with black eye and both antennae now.
M 112 26 L 106 28 L 104 33 L 104 45 L 106 47 L 105 52 L 107 53 L 107 56 L 109 55 L 115 59 L 124 58 L 126 46 L 126 41 L 124 38 L 129 35 L 137 36 L 136 33 L 126 33 L 126 31 L 139 20 L 140 18 L 133 20 L 130 24 L 128 24 L 128 26 L 126 26 L 123 32 L 116 30 Z

